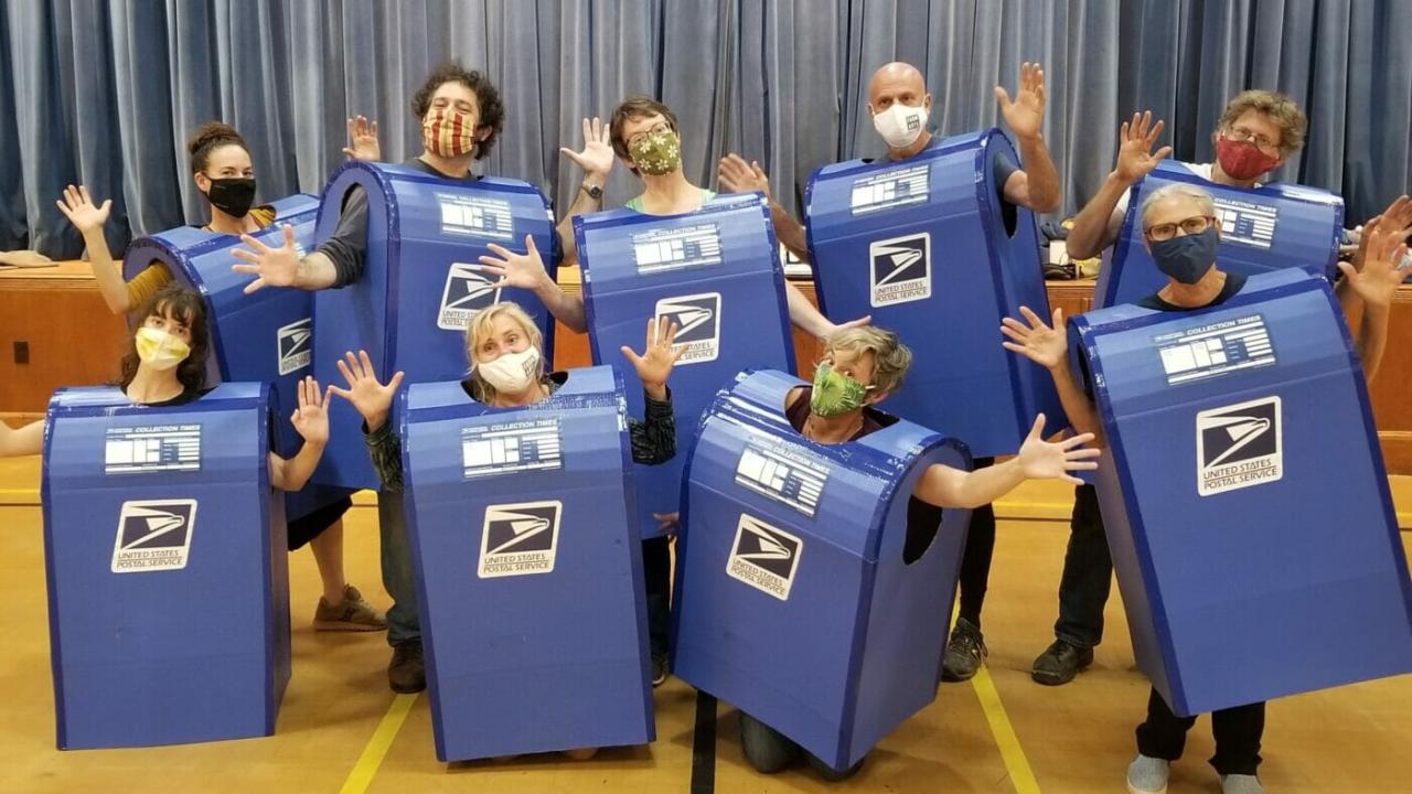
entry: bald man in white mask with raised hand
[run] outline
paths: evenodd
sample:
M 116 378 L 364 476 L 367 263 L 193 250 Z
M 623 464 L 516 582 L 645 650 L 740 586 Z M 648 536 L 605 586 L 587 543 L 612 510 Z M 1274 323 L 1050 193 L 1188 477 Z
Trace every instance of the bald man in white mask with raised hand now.
M 1045 120 L 1045 73 L 1038 64 L 1019 66 L 1019 90 L 1011 102 L 1010 92 L 995 86 L 995 102 L 1005 124 L 1019 146 L 1025 168 L 1008 161 L 995 160 L 995 184 L 1001 185 L 1001 209 L 1012 220 L 1015 206 L 1034 212 L 1059 209 L 1059 171 L 1049 147 L 1045 146 L 1041 127 Z M 873 129 L 887 144 L 887 158 L 901 162 L 916 157 L 928 147 L 940 143 L 928 127 L 932 110 L 932 95 L 926 90 L 922 72 L 911 64 L 894 62 L 873 73 L 868 82 L 868 114 Z M 717 171 L 722 188 L 734 192 L 761 191 L 767 198 L 770 179 L 758 162 L 746 162 L 731 153 L 722 158 Z M 803 225 L 795 220 L 779 202 L 770 199 L 770 211 L 775 225 L 775 236 L 795 256 L 809 260 L 809 242 Z M 1038 259 L 1036 259 L 1038 266 Z M 990 329 L 976 329 L 988 333 Z M 991 465 L 991 458 L 977 458 L 976 468 Z M 966 555 L 960 571 L 960 613 L 956 629 L 946 644 L 946 658 L 942 663 L 942 678 L 966 681 L 980 670 L 986 660 L 986 641 L 980 632 L 980 609 L 986 599 L 990 579 L 990 559 L 995 548 L 995 513 L 990 504 L 971 511 L 970 531 L 966 538 Z

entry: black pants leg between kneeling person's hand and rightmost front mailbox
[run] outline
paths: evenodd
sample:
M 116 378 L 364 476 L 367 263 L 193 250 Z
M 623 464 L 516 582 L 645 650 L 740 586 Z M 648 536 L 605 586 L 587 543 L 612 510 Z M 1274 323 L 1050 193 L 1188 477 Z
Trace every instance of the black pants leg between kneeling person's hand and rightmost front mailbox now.
M 1099 489 L 1080 485 L 1073 489 L 1055 637 L 1079 648 L 1091 648 L 1103 641 L 1103 606 L 1108 603 L 1111 589 L 1113 557 L 1099 511 Z

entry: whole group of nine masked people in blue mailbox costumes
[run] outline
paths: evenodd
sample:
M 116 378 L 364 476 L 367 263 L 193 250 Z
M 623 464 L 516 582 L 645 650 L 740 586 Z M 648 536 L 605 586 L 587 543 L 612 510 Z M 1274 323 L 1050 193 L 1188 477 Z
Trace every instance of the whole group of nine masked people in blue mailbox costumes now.
M 1365 387 L 1412 202 L 1337 261 L 1341 201 L 1264 184 L 1303 143 L 1288 97 L 1236 96 L 1209 164 L 1166 160 L 1162 122 L 1134 114 L 1067 237 L 1106 256 L 1101 308 L 1066 324 L 1032 218 L 1060 202 L 1039 66 L 997 99 L 1010 136 L 940 138 L 922 75 L 882 66 L 887 154 L 815 172 L 802 220 L 736 154 L 726 194 L 693 185 L 690 131 L 630 97 L 562 150 L 583 179 L 555 226 L 537 188 L 472 174 L 504 107 L 455 62 L 415 96 L 424 151 L 378 164 L 376 124 L 350 120 L 322 199 L 256 206 L 244 141 L 203 127 L 210 222 L 134 243 L 126 280 L 109 202 L 66 191 L 134 338 L 116 387 L 0 425 L 4 455 L 45 455 L 59 745 L 273 732 L 282 538 L 313 541 L 316 626 L 385 626 L 391 688 L 429 687 L 442 760 L 651 742 L 671 670 L 740 708 L 760 771 L 842 780 L 939 680 L 976 674 L 990 504 L 1062 479 L 1073 531 L 1035 681 L 1093 661 L 1115 568 L 1152 681 L 1128 790 L 1165 791 L 1211 712 L 1224 791 L 1261 791 L 1267 699 L 1412 670 Z M 616 161 L 642 192 L 604 211 Z M 818 309 L 779 244 L 812 263 Z M 573 260 L 582 294 L 555 278 Z M 555 321 L 597 366 L 552 370 Z M 791 325 L 823 340 L 812 383 Z M 1305 499 L 1316 482 L 1339 499 Z M 342 574 L 361 487 L 385 619 Z

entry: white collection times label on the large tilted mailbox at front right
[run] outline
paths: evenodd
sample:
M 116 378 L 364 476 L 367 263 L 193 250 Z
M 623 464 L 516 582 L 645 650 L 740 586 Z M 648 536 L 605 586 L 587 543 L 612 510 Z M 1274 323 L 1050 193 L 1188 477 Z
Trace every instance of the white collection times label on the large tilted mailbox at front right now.
M 1262 315 L 1250 315 L 1154 336 L 1168 386 L 1236 370 L 1271 366 L 1275 348 Z

